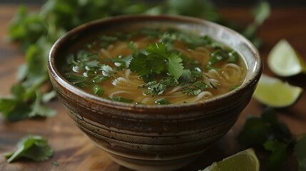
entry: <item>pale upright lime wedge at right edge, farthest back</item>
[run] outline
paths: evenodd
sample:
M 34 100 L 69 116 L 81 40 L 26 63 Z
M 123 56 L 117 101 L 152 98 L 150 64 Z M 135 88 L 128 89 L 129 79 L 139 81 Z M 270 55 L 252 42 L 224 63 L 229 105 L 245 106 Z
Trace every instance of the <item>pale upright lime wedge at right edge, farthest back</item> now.
M 267 66 L 278 76 L 294 76 L 306 73 L 306 65 L 300 55 L 285 39 L 280 40 L 267 56 Z

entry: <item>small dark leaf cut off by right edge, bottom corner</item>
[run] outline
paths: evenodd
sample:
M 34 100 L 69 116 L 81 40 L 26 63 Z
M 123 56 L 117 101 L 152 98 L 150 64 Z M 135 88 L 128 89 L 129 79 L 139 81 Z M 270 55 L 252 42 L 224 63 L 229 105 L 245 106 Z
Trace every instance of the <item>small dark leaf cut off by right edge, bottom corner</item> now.
M 299 171 L 306 170 L 306 135 L 297 140 L 294 152 L 297 156 Z

